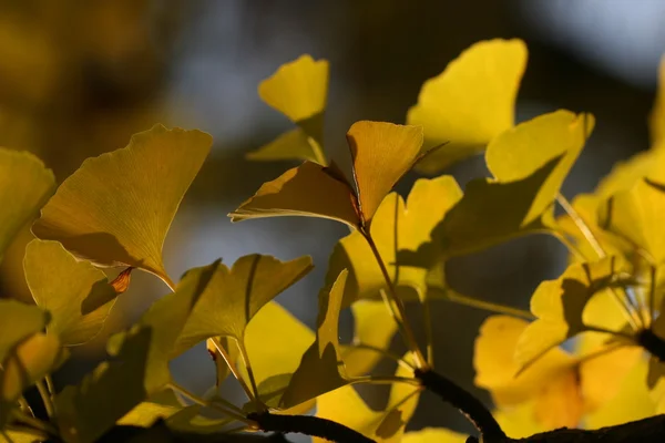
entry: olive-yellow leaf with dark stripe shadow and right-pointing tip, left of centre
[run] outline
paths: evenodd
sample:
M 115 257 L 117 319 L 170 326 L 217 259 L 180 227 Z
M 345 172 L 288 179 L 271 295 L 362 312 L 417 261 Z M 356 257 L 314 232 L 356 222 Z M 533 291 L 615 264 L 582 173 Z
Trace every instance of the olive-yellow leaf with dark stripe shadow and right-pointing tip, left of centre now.
M 242 347 L 252 317 L 311 268 L 309 256 L 283 262 L 258 254 L 238 258 L 232 269 L 219 265 L 172 354 L 177 356 L 211 337 L 231 337 Z

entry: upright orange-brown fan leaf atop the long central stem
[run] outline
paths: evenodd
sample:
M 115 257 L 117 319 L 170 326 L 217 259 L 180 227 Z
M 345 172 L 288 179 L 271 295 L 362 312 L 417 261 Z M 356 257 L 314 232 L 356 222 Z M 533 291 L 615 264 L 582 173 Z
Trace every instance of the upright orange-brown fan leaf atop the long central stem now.
M 369 224 L 383 197 L 413 167 L 422 146 L 422 127 L 356 122 L 347 133 L 362 220 Z

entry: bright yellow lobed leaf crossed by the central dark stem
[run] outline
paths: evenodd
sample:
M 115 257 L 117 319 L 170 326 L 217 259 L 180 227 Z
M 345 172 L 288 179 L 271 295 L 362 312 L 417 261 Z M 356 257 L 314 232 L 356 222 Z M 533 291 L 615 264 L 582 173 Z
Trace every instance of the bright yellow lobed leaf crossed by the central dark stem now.
M 454 178 L 441 176 L 418 179 L 406 205 L 397 193 L 383 199 L 375 214 L 370 234 L 396 286 L 410 286 L 419 292 L 420 298 L 423 297 L 427 290 L 427 270 L 399 266 L 397 251 L 417 250 L 430 240 L 432 228 L 461 196 L 462 192 Z M 345 306 L 357 299 L 376 298 L 379 290 L 386 288 L 381 268 L 367 239 L 358 231 L 349 234 L 335 247 L 326 280 L 329 282 L 345 268 L 349 269 Z

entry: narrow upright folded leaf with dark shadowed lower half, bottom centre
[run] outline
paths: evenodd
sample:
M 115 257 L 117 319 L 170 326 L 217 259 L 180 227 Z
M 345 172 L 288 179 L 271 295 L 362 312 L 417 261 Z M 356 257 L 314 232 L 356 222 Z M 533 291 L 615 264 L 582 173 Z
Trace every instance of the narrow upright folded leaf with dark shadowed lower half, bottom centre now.
M 284 393 L 280 406 L 293 408 L 346 384 L 339 354 L 339 312 L 348 272 L 342 270 L 331 287 L 319 292 L 316 340 L 303 356 Z M 313 377 L 316 374 L 316 377 Z

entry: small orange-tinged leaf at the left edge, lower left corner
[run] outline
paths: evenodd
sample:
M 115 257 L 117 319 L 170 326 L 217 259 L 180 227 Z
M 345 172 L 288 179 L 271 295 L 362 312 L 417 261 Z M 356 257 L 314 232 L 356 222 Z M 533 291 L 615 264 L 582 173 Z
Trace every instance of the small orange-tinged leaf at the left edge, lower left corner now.
M 55 370 L 62 360 L 58 337 L 41 332 L 22 340 L 7 354 L 0 368 L 0 429 L 23 391 Z

